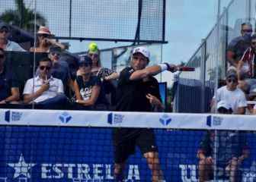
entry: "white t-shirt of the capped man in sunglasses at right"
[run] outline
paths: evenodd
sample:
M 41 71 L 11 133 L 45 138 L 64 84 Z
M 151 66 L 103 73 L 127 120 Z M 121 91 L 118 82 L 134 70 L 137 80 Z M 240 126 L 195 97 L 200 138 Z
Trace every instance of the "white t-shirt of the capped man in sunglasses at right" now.
M 216 102 L 225 100 L 232 107 L 233 113 L 237 113 L 238 108 L 247 107 L 247 101 L 245 99 L 245 93 L 241 89 L 236 88 L 230 91 L 227 86 L 222 86 L 217 89 L 216 96 L 213 96 Z

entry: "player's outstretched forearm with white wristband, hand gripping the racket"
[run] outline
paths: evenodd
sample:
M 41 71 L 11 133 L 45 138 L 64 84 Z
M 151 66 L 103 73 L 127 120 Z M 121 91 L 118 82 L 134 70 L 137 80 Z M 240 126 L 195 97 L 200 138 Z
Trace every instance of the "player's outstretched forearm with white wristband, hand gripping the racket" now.
M 149 77 L 155 74 L 159 74 L 162 71 L 171 71 L 175 72 L 177 71 L 178 68 L 174 64 L 158 64 L 150 67 L 146 67 L 142 70 L 134 71 L 133 74 L 130 76 L 130 80 L 140 80 L 145 77 Z

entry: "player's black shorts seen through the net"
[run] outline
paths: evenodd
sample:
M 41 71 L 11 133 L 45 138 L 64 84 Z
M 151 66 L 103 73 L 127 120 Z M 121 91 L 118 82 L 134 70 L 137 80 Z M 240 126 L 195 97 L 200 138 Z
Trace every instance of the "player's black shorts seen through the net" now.
M 134 154 L 136 146 L 140 152 L 158 152 L 155 134 L 152 129 L 114 129 L 114 162 L 123 163 Z

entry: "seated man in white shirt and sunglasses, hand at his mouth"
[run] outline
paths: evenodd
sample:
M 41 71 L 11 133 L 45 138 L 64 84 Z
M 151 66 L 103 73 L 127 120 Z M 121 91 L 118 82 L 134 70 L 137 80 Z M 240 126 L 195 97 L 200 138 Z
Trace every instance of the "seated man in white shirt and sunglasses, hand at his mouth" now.
M 42 108 L 58 108 L 67 103 L 62 80 L 50 72 L 53 64 L 50 58 L 39 61 L 39 75 L 27 80 L 24 86 L 24 103 L 36 103 Z

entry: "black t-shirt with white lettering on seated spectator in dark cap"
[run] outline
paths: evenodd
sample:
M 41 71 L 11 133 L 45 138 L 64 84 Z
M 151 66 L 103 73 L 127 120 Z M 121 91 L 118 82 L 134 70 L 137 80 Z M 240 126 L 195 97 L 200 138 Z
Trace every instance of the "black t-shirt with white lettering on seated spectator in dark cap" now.
M 82 79 L 82 76 L 76 77 L 76 82 L 78 83 L 78 87 L 80 90 L 80 94 L 82 96 L 82 99 L 87 100 L 91 97 L 91 90 L 93 86 L 101 86 L 101 80 L 98 77 L 91 76 L 90 80 L 87 82 L 84 82 Z M 101 92 L 98 96 L 98 99 L 96 101 L 96 104 L 104 103 L 104 96 L 102 96 Z

